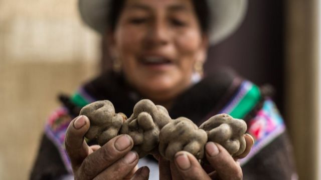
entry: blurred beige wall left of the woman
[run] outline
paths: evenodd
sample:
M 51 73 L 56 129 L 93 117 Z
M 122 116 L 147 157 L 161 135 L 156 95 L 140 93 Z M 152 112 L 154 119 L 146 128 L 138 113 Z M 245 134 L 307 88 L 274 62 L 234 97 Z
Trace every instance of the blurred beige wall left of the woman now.
M 58 92 L 96 72 L 98 36 L 76 0 L 0 0 L 0 179 L 28 179 Z

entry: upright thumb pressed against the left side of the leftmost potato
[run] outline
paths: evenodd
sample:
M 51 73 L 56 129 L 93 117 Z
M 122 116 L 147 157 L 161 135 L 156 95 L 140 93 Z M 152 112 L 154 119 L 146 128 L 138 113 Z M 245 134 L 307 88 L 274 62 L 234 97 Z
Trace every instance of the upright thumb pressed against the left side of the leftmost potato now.
M 73 119 L 66 131 L 65 146 L 73 168 L 79 167 L 81 162 L 91 152 L 86 141 L 85 133 L 88 131 L 90 122 L 88 117 L 80 115 Z

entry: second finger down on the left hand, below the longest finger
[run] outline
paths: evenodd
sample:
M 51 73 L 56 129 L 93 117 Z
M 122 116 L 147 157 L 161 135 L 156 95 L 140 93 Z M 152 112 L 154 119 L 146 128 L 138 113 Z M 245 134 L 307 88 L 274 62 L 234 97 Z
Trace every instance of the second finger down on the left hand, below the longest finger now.
M 138 154 L 135 151 L 129 151 L 124 157 L 108 166 L 104 171 L 99 173 L 94 179 L 123 179 L 138 163 Z

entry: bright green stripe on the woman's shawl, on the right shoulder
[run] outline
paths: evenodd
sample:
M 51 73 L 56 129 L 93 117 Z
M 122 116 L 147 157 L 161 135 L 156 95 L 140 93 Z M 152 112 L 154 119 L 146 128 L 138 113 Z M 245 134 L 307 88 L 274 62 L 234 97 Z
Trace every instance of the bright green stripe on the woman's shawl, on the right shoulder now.
M 260 98 L 260 89 L 258 86 L 253 84 L 251 89 L 244 95 L 234 109 L 231 110 L 230 115 L 234 118 L 243 118 L 249 111 L 253 109 Z

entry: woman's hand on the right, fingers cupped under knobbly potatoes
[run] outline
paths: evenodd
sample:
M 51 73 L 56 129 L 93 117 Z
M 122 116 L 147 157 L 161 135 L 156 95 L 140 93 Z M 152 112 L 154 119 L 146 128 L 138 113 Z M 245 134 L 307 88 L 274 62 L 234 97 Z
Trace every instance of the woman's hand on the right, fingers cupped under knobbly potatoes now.
M 254 143 L 253 138 L 248 134 L 245 135 L 245 140 L 246 149 L 237 158 L 245 157 Z M 210 173 L 204 170 L 194 155 L 187 151 L 180 151 L 176 153 L 174 162 L 163 157 L 159 158 L 159 179 L 242 179 L 240 164 L 223 146 L 208 142 L 205 150 L 212 169 Z

